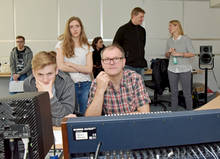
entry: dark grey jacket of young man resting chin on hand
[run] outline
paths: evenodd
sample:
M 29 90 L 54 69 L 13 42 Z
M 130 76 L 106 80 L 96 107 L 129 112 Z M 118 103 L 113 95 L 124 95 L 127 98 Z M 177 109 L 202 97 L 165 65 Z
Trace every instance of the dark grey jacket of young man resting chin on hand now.
M 24 92 L 37 92 L 35 77 L 30 75 L 24 81 Z M 72 79 L 59 71 L 54 82 L 55 94 L 50 99 L 52 123 L 60 126 L 61 120 L 75 111 L 75 87 Z

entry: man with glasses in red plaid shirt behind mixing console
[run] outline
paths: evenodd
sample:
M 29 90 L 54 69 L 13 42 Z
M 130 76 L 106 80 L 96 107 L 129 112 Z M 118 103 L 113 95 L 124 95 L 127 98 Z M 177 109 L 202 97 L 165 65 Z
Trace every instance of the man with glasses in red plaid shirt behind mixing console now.
M 150 98 L 140 74 L 124 70 L 125 55 L 116 44 L 101 53 L 101 71 L 93 80 L 85 116 L 149 112 Z

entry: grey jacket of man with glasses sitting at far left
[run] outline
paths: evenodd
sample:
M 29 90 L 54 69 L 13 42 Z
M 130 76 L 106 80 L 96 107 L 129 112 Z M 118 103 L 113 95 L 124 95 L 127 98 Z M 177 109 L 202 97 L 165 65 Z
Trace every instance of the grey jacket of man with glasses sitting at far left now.
M 24 69 L 21 72 L 16 72 L 16 65 L 18 61 L 18 54 L 17 54 L 17 47 L 14 47 L 10 54 L 10 68 L 11 74 L 19 73 L 20 75 L 27 74 L 29 76 L 32 73 L 31 70 L 31 60 L 33 58 L 33 53 L 28 46 L 24 46 L 25 53 L 24 53 Z

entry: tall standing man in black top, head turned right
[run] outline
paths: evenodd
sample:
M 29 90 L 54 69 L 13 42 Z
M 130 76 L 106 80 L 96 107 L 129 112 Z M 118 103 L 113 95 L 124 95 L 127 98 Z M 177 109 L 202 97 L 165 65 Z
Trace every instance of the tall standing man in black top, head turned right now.
M 113 43 L 119 44 L 125 51 L 125 68 L 144 75 L 144 67 L 147 67 L 145 60 L 146 31 L 141 26 L 144 21 L 145 11 L 136 7 L 131 12 L 131 20 L 121 26 L 114 37 Z

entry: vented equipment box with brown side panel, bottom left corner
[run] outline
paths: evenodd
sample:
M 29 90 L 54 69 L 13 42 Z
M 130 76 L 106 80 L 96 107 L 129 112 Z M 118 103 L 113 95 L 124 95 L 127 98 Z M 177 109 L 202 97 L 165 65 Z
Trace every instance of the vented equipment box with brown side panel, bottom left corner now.
M 28 158 L 44 158 L 54 143 L 47 92 L 19 93 L 0 98 L 0 157 L 7 159 L 13 155 L 9 151 L 9 140 L 25 137 L 29 137 Z

